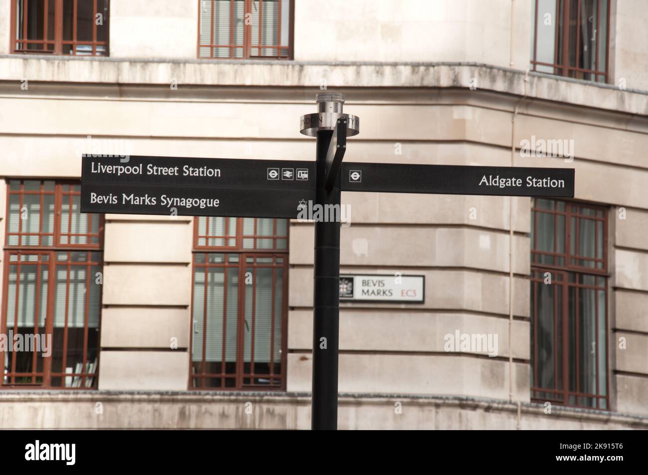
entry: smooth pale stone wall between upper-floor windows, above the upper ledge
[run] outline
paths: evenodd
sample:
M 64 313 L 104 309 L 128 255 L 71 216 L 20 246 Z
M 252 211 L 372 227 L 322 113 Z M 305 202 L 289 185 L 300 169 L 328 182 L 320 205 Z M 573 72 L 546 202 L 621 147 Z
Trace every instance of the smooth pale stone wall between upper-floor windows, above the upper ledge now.
M 643 0 L 611 3 L 610 84 L 623 82 L 628 88 L 648 90 L 648 45 L 643 35 L 648 5 Z M 111 1 L 111 58 L 195 60 L 198 1 L 159 0 L 143 5 Z M 371 0 L 330 0 L 324 10 L 318 3 L 297 1 L 294 54 L 297 61 L 476 62 L 524 71 L 529 67 L 532 26 L 530 0 L 410 0 L 378 5 Z M 3 2 L 0 54 L 9 51 L 9 32 L 10 3 Z M 314 32 L 327 41 L 314 39 Z M 169 75 L 169 84 L 171 78 L 181 84 L 178 75 Z M 317 84 L 321 80 L 330 85 L 339 77 L 319 75 Z

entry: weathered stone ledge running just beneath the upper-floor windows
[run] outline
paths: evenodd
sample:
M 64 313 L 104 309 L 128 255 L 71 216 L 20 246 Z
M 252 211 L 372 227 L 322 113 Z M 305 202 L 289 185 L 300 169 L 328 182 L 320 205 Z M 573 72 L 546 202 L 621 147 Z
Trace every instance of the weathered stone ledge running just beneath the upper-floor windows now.
M 648 115 L 648 91 L 621 91 L 544 73 L 476 63 L 142 60 L 0 55 L 0 80 L 109 84 L 314 87 L 461 87 Z

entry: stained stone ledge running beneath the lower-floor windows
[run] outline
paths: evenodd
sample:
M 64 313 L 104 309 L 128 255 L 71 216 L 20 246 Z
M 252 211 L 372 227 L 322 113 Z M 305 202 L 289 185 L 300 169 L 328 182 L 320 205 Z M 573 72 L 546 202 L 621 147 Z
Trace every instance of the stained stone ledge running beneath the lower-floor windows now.
M 3 428 L 298 429 L 310 428 L 310 397 L 301 393 L 73 391 L 0 395 Z M 648 429 L 648 418 L 466 397 L 340 396 L 342 430 Z M 35 424 L 35 421 L 38 421 Z

